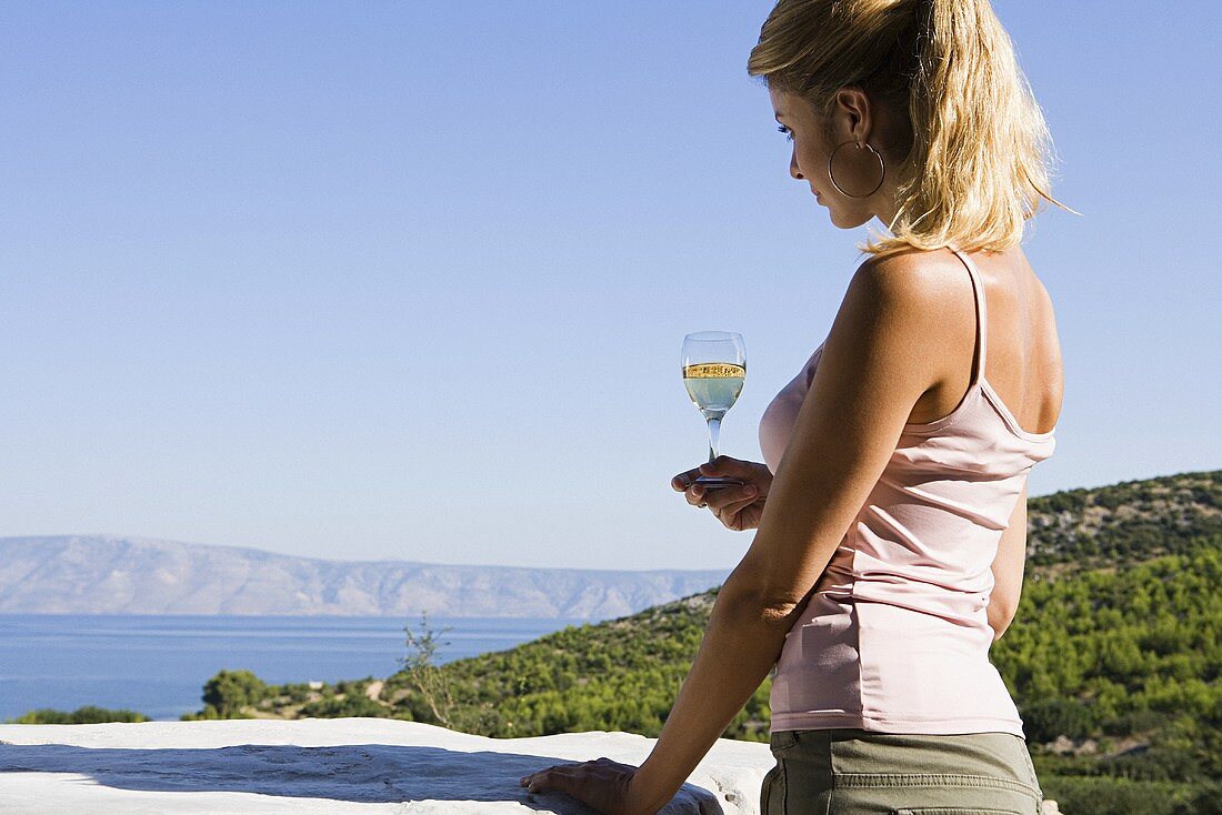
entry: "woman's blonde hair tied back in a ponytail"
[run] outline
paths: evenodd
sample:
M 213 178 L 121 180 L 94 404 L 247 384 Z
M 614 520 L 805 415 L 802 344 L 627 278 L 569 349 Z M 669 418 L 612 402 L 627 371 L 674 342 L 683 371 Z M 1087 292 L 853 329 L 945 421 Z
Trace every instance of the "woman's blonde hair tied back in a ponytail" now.
M 1041 202 L 1061 205 L 1047 125 L 989 0 L 780 0 L 747 68 L 825 114 L 846 86 L 907 111 L 910 130 L 882 145 L 899 159 L 898 211 L 865 252 L 996 252 Z

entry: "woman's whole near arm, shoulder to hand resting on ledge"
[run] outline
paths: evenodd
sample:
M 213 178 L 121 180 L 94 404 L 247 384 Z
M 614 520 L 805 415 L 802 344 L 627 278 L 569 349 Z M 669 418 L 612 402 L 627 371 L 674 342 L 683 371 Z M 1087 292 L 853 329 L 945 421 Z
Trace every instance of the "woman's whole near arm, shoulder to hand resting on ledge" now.
M 937 349 L 929 338 L 945 320 L 938 291 L 908 255 L 870 260 L 854 275 L 759 530 L 717 595 L 657 744 L 639 770 L 616 782 L 626 797 L 579 767 L 535 773 L 527 780 L 532 789 L 556 787 L 604 811 L 633 815 L 671 799 L 776 662 L 913 404 L 932 385 Z

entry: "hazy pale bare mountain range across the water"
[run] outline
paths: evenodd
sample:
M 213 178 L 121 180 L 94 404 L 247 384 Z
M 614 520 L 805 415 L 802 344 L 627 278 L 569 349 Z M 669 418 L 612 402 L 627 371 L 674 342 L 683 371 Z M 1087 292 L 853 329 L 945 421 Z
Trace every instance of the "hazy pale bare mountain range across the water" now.
M 703 591 L 723 571 L 326 561 L 145 538 L 0 538 L 0 612 L 606 619 Z

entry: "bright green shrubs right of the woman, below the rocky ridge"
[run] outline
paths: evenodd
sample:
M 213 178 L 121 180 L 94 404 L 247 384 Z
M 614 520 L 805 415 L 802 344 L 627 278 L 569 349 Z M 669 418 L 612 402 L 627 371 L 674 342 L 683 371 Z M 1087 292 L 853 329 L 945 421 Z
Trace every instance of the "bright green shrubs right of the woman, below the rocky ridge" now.
M 1222 778 L 1218 585 L 1222 535 L 1191 554 L 1028 584 L 992 660 L 1063 810 L 1210 811 L 1194 802 Z

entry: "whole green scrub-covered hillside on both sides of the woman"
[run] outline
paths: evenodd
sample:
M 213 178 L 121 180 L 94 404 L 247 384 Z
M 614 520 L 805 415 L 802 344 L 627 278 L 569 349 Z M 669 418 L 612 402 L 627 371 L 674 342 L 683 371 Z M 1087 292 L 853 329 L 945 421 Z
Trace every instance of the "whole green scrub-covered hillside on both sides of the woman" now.
M 991 659 L 1046 794 L 1067 813 L 1220 811 L 1222 470 L 1031 499 L 1029 563 L 1015 622 Z M 714 589 L 440 667 L 424 621 L 407 629 L 403 670 L 382 682 L 260 695 L 253 676 L 218 674 L 209 685 L 220 696 L 205 692 L 205 711 L 390 716 L 496 737 L 656 736 L 715 600 Z M 727 736 L 766 739 L 769 687 Z

